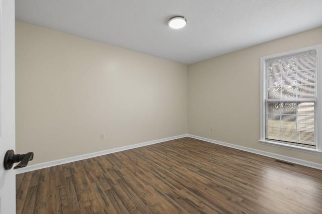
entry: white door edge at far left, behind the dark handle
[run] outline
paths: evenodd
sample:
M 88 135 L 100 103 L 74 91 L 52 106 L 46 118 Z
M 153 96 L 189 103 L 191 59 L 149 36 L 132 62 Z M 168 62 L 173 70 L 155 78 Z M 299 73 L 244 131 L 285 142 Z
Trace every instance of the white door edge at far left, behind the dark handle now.
M 0 214 L 16 213 L 16 172 L 5 170 L 15 150 L 15 1 L 0 0 Z

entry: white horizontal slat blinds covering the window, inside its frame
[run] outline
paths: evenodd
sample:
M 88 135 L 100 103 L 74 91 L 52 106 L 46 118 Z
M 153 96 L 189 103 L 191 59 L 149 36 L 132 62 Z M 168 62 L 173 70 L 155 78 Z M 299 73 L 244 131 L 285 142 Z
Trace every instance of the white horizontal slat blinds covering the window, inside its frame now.
M 265 137 L 315 145 L 316 50 L 266 60 Z

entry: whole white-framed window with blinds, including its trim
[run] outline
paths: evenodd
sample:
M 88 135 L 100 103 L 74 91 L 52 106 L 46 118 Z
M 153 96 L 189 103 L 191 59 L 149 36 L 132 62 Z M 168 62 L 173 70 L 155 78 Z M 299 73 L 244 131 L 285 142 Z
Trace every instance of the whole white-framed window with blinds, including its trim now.
M 261 58 L 262 143 L 322 152 L 319 52 L 322 45 Z

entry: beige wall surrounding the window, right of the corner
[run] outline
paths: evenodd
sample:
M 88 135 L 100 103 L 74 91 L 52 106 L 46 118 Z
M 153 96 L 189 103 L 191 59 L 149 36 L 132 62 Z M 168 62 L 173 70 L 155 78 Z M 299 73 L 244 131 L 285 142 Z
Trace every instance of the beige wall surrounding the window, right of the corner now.
M 259 142 L 260 57 L 321 43 L 317 28 L 189 65 L 188 133 L 321 164 L 320 155 Z

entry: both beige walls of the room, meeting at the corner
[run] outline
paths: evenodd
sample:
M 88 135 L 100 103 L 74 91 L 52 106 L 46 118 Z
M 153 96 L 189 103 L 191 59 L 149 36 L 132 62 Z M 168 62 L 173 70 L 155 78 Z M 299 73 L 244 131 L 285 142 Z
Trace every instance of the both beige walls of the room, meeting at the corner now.
M 318 28 L 187 67 L 16 22 L 16 152 L 33 165 L 189 133 L 322 163 L 259 143 L 260 57 L 321 43 Z

